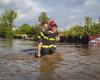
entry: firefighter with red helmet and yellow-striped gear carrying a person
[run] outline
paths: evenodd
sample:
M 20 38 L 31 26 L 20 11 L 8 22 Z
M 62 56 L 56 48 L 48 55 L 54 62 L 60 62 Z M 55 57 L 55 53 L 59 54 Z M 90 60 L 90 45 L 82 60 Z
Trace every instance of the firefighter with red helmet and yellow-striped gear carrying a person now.
M 56 42 L 59 40 L 57 25 L 54 20 L 43 23 L 38 35 L 36 57 L 53 54 L 56 50 Z

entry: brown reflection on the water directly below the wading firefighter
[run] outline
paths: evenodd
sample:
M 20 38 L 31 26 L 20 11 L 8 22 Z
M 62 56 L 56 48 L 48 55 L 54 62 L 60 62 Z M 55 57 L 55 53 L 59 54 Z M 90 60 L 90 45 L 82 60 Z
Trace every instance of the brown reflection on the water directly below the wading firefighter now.
M 39 66 L 38 80 L 57 80 L 55 70 L 59 67 L 58 62 L 62 61 L 61 55 L 58 53 L 52 56 L 44 57 Z

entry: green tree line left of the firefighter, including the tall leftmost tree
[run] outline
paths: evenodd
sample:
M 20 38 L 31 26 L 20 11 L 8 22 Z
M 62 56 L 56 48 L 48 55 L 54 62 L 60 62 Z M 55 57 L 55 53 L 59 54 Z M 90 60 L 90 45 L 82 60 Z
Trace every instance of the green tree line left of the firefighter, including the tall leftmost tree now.
M 49 20 L 49 17 L 45 12 L 41 12 L 38 17 L 38 24 L 29 25 L 27 23 L 21 26 L 14 25 L 14 21 L 17 18 L 17 12 L 9 9 L 4 10 L 0 15 L 0 37 L 2 38 L 14 38 L 17 35 L 26 34 L 28 37 L 37 37 L 41 30 L 42 24 Z

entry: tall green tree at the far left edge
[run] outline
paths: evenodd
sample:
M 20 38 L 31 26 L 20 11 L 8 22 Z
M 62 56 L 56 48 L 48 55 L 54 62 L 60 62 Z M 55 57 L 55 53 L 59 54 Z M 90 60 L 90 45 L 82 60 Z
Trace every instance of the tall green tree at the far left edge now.
M 0 27 L 1 32 L 0 35 L 3 35 L 7 38 L 13 37 L 12 27 L 14 26 L 14 19 L 16 19 L 17 13 L 14 10 L 5 10 L 4 13 L 0 16 Z

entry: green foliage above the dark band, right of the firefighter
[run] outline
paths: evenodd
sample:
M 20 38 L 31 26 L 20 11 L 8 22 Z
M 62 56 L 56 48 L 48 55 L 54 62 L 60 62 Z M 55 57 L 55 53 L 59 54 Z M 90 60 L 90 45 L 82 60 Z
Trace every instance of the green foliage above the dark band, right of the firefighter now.
M 100 34 L 100 22 L 93 22 L 92 18 L 87 16 L 85 17 L 84 26 L 75 25 L 67 31 L 64 31 L 65 36 L 86 36 Z

